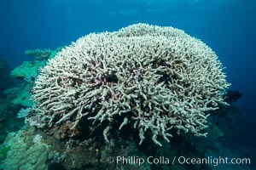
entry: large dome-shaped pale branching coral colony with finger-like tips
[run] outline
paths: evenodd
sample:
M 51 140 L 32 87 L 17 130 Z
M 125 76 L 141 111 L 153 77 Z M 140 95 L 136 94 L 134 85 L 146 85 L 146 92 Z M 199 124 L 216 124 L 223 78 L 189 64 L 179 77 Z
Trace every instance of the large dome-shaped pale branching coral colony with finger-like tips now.
M 69 138 L 129 126 L 142 144 L 173 133 L 206 136 L 207 111 L 224 102 L 223 66 L 211 48 L 172 27 L 137 24 L 91 33 L 40 71 L 26 122 Z M 65 132 L 63 129 L 65 128 Z

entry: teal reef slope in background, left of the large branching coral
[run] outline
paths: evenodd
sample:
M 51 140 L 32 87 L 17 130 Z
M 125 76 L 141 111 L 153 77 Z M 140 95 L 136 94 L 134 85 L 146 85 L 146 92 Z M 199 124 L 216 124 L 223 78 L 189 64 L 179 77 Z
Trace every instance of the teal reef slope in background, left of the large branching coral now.
M 53 58 L 60 49 L 56 48 L 51 51 L 48 57 Z M 8 62 L 0 55 L 0 142 L 7 133 L 18 130 L 24 125 L 24 120 L 17 119 L 17 113 L 21 107 L 25 109 L 32 106 L 30 90 L 38 76 L 39 69 L 45 64 L 46 59 L 25 61 L 10 71 Z M 15 83 L 12 77 L 21 81 L 15 81 Z

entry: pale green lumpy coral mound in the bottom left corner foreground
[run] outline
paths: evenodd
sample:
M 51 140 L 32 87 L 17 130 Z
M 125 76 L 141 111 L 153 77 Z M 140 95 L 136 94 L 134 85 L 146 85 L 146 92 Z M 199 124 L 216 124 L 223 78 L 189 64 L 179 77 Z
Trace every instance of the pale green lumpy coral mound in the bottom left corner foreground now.
M 49 146 L 40 140 L 35 140 L 31 144 L 26 143 L 26 139 L 31 139 L 31 137 L 22 137 L 22 133 L 24 132 L 8 134 L 1 147 L 9 148 L 9 150 L 0 168 L 5 170 L 47 169 L 46 161 L 50 151 Z

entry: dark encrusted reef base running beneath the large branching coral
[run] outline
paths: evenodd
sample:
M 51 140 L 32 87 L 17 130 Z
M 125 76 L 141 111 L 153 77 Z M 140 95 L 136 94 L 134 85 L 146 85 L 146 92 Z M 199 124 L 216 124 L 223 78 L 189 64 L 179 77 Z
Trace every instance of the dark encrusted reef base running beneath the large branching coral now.
M 197 151 L 193 143 L 197 144 L 198 148 L 207 147 L 204 143 L 205 138 L 195 139 L 188 138 L 188 135 L 185 137 L 179 135 L 176 139 L 171 139 L 171 144 L 161 139 L 163 147 L 160 148 L 156 144 L 149 143 L 150 140 L 138 146 L 135 139 L 137 135 L 134 135 L 132 131 L 125 131 L 125 135 L 117 131 L 114 135 L 116 138 L 110 139 L 107 144 L 104 144 L 103 138 L 97 140 L 96 136 L 90 136 L 82 142 L 78 139 L 60 141 L 40 129 L 24 127 L 19 132 L 9 133 L 3 144 L 0 145 L 0 154 L 3 154 L 2 160 L 0 160 L 0 169 L 207 169 L 207 165 L 184 165 L 178 162 L 172 165 L 147 162 L 141 165 L 108 162 L 109 156 L 114 159 L 117 156 L 125 158 L 137 156 L 144 160 L 147 160 L 148 156 L 157 159 L 160 156 L 170 159 L 174 156 L 203 157 L 206 150 Z

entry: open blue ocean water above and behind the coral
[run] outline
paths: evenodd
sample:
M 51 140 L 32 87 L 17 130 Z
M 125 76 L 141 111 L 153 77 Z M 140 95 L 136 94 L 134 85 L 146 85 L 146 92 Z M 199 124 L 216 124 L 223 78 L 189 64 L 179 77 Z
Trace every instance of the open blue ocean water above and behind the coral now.
M 32 60 L 26 49 L 55 49 L 90 32 L 139 22 L 182 29 L 218 54 L 230 88 L 242 94 L 237 142 L 245 144 L 242 132 L 255 137 L 255 0 L 1 0 L 0 21 L 0 54 L 12 68 Z

